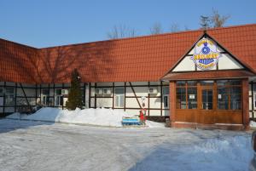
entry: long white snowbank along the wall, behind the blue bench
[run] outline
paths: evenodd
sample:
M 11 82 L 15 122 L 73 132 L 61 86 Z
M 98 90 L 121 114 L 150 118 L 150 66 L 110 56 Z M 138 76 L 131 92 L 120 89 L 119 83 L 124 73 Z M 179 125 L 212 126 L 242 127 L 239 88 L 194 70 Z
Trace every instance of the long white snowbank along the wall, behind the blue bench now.
M 122 127 L 122 117 L 131 117 L 125 111 L 105 108 L 84 109 L 77 108 L 75 111 L 61 110 L 45 107 L 32 115 L 21 115 L 14 113 L 7 118 L 26 119 L 36 121 L 48 121 L 55 123 L 81 123 L 100 126 Z M 149 128 L 163 128 L 164 124 L 147 121 Z

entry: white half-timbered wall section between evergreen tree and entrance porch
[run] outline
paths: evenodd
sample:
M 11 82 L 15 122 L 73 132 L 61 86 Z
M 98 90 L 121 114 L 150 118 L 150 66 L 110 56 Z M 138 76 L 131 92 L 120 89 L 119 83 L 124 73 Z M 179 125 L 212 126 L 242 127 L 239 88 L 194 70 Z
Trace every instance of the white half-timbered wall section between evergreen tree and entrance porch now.
M 116 90 L 123 88 L 124 103 L 117 105 Z M 157 89 L 157 93 L 149 94 L 148 88 Z M 96 90 L 97 89 L 97 90 Z M 109 89 L 111 94 L 96 94 L 98 89 Z M 165 91 L 165 92 L 164 92 Z M 164 93 L 164 94 L 163 94 Z M 121 109 L 128 113 L 138 114 L 142 108 L 142 97 L 145 97 L 145 108 L 148 116 L 165 117 L 169 116 L 169 84 L 165 82 L 125 82 L 125 83 L 90 83 L 90 104 L 89 107 L 109 107 Z M 165 97 L 164 97 L 165 96 Z

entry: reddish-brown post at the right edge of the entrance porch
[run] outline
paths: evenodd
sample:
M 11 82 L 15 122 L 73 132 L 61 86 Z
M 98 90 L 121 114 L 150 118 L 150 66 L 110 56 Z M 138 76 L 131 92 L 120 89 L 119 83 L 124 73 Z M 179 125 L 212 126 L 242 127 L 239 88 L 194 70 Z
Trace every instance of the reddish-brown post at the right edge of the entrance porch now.
M 242 79 L 242 123 L 249 128 L 249 83 L 248 78 Z

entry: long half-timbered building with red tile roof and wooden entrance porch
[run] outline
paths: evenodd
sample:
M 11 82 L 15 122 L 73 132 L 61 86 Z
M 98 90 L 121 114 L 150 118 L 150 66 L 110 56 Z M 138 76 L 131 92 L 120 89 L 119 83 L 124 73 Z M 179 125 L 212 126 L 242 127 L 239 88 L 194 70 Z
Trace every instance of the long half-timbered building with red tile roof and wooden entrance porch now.
M 65 108 L 74 68 L 84 104 L 172 127 L 247 128 L 256 115 L 256 24 L 51 48 L 0 39 L 0 113 Z

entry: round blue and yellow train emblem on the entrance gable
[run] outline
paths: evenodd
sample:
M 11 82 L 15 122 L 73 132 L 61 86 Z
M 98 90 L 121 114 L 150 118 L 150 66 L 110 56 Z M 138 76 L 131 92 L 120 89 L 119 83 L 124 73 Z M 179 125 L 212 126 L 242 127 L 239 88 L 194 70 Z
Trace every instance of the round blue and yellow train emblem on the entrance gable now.
M 202 38 L 195 44 L 191 60 L 194 60 L 195 65 L 201 70 L 210 70 L 218 63 L 219 56 L 216 44 L 210 39 Z

